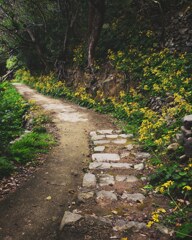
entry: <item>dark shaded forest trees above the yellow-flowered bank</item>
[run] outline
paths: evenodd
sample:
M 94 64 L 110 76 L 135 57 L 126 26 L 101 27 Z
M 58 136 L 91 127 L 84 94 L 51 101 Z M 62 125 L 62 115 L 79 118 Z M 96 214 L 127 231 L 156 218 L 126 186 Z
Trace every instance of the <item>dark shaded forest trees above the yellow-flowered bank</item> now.
M 1 0 L 0 17 L 1 72 L 11 59 L 9 65 L 53 70 L 63 78 L 72 65 L 93 68 L 106 62 L 108 49 L 191 50 L 186 28 L 191 3 L 185 0 Z

